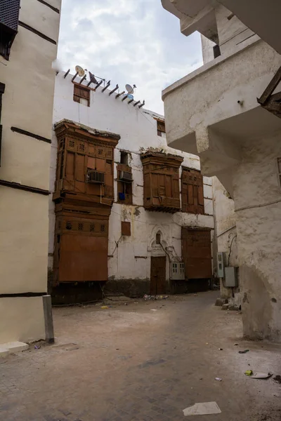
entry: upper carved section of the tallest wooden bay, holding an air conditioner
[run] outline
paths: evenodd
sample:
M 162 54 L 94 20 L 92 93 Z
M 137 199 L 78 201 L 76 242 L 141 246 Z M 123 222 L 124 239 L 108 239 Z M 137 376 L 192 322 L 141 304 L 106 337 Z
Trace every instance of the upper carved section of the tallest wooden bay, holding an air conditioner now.
M 78 199 L 112 204 L 113 158 L 119 135 L 88 131 L 68 121 L 57 123 L 55 133 L 58 161 L 53 199 L 76 194 Z

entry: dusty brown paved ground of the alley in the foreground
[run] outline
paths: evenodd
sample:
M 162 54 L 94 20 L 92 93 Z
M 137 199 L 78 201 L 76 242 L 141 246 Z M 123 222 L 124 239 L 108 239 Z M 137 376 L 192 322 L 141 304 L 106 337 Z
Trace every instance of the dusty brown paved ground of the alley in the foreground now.
M 281 375 L 281 347 L 240 339 L 216 295 L 55 308 L 55 345 L 0 360 L 0 420 L 280 421 L 281 385 L 244 371 Z M 208 401 L 221 414 L 183 416 Z

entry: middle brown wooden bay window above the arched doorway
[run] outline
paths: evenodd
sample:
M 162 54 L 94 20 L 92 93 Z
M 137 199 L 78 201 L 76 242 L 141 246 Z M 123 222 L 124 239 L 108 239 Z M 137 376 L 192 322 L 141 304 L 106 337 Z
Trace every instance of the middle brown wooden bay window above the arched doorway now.
M 143 206 L 147 210 L 178 212 L 181 208 L 179 167 L 181 156 L 145 152 L 143 161 Z

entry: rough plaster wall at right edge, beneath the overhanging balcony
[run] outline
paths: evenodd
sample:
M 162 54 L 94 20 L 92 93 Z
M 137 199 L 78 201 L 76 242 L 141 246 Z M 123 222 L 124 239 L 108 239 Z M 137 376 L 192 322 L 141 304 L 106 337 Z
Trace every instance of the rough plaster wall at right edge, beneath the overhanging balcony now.
M 243 151 L 233 183 L 244 333 L 280 341 L 281 191 L 276 158 L 281 156 L 281 131 L 249 140 Z

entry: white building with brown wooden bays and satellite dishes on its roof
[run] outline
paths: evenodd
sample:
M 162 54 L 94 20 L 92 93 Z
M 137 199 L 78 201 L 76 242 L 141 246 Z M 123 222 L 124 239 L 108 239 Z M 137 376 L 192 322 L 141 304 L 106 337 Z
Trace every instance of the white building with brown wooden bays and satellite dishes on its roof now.
M 206 287 L 212 179 L 197 156 L 167 147 L 163 116 L 74 76 L 55 82 L 53 300 L 91 300 L 102 288 L 136 296 Z

